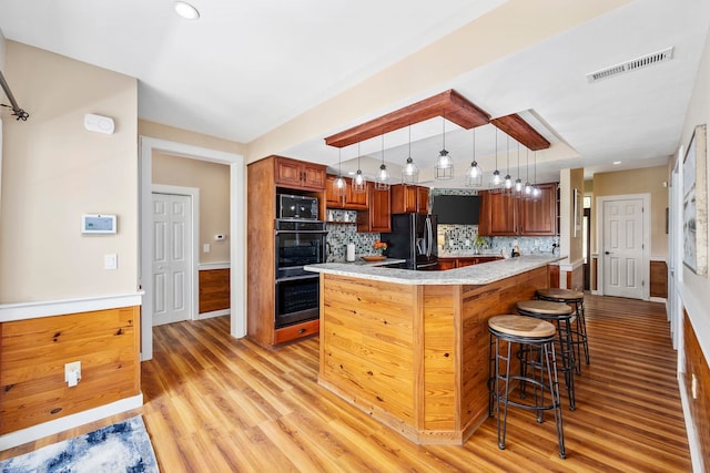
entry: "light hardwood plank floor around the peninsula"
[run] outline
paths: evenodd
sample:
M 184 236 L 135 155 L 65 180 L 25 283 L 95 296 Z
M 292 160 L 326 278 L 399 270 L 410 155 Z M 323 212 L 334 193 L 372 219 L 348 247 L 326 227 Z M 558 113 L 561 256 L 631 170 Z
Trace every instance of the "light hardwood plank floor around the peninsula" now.
M 463 446 L 415 445 L 318 387 L 318 339 L 267 351 L 229 318 L 154 329 L 143 408 L 0 453 L 7 459 L 143 414 L 162 472 L 689 472 L 665 307 L 587 296 L 591 364 L 555 423 L 511 409 L 506 450 L 488 419 Z

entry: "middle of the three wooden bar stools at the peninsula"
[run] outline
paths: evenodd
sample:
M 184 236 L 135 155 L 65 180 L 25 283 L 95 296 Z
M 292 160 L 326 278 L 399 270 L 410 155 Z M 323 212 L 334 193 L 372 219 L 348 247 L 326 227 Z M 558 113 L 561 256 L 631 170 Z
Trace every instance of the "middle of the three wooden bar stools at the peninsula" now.
M 575 402 L 575 352 L 572 350 L 572 308 L 562 302 L 547 300 L 521 300 L 517 304 L 520 316 L 534 317 L 554 323 L 559 336 L 559 356 L 565 374 L 565 388 L 569 399 L 569 410 L 576 409 Z M 521 363 L 525 368 L 525 363 Z

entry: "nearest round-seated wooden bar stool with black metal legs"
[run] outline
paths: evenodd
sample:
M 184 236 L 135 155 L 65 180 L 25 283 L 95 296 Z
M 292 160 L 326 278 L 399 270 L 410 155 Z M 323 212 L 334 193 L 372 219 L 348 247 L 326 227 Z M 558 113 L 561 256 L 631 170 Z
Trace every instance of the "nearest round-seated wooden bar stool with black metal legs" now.
M 490 333 L 490 353 L 488 372 L 488 414 L 493 417 L 493 403 L 495 400 L 498 448 L 506 448 L 506 423 L 508 420 L 508 405 L 532 410 L 537 414 L 537 421 L 544 421 L 545 411 L 555 413 L 555 426 L 559 444 L 560 459 L 566 457 L 565 434 L 562 431 L 562 410 L 559 403 L 559 388 L 557 382 L 557 361 L 555 356 L 555 326 L 545 320 L 536 320 L 530 317 L 504 315 L 488 319 L 488 332 Z M 501 349 L 501 343 L 504 345 Z M 537 354 L 535 361 L 528 364 L 532 369 L 530 376 L 510 374 L 511 347 L 530 348 Z M 503 351 L 503 353 L 501 353 Z M 505 369 L 500 364 L 505 362 Z M 518 381 L 534 387 L 534 402 L 526 402 L 514 395 L 510 398 L 510 383 Z M 546 393 L 549 400 L 546 401 Z M 521 397 L 523 398 L 523 397 Z M 503 404 L 503 429 L 500 425 L 500 404 Z

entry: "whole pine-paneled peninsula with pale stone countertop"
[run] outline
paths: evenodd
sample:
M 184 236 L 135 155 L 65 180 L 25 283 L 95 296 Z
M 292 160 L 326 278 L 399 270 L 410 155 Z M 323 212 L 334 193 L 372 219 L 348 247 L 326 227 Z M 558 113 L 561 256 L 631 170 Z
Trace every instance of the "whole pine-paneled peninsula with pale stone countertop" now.
M 306 267 L 321 273 L 318 383 L 413 442 L 463 444 L 488 415 L 488 318 L 549 287 L 558 259 Z

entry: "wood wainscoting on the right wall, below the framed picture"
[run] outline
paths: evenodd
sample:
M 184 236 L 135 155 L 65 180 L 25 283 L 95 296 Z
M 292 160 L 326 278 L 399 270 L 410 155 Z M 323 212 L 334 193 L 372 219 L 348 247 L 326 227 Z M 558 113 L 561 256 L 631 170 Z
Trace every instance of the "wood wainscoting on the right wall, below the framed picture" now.
M 692 322 L 683 310 L 683 349 L 686 369 L 683 384 L 690 402 L 690 417 L 696 426 L 700 454 L 706 467 L 710 466 L 710 367 L 700 348 Z M 696 379 L 697 398 L 693 399 L 692 384 Z

